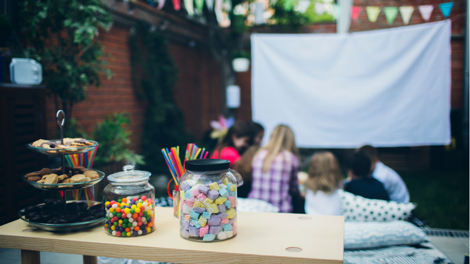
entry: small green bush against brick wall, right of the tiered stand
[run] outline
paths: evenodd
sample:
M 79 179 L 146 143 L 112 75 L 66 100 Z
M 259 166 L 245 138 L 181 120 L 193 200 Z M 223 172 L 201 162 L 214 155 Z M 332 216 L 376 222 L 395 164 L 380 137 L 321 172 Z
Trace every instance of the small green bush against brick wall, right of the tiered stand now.
M 126 126 L 130 124 L 129 115 L 126 113 L 114 113 L 96 124 L 91 138 L 98 141 L 96 152 L 96 166 L 125 160 L 132 165 L 145 164 L 143 156 L 129 150 L 131 132 L 126 132 Z

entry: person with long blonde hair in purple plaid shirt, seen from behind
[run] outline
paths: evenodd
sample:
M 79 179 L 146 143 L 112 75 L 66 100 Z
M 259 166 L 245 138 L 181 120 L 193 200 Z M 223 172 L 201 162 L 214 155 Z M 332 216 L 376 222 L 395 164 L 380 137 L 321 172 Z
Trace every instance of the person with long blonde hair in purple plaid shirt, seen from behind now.
M 253 159 L 253 183 L 248 198 L 264 200 L 281 213 L 293 211 L 292 197 L 298 195 L 299 151 L 294 132 L 286 125 L 274 128 L 266 146 Z

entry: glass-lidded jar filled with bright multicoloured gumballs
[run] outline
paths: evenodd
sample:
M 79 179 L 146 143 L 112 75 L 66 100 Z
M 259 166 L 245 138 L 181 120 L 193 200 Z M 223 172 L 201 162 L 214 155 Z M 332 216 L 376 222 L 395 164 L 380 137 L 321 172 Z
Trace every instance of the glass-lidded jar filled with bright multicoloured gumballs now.
M 117 237 L 145 235 L 155 229 L 155 188 L 148 183 L 150 172 L 134 171 L 134 166 L 108 176 L 103 191 L 106 234 Z

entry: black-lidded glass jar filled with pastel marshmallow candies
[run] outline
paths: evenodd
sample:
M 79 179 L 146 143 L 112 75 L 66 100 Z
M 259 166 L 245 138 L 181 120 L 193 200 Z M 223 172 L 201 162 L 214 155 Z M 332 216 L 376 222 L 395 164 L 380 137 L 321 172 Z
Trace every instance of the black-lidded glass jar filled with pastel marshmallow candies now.
M 237 235 L 237 180 L 230 162 L 197 159 L 185 162 L 179 181 L 180 235 L 214 242 Z

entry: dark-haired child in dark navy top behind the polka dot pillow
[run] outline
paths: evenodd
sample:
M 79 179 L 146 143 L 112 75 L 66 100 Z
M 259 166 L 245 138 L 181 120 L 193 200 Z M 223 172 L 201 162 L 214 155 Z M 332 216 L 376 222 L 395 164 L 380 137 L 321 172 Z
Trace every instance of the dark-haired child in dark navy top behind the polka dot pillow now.
M 371 160 L 362 152 L 354 152 L 347 160 L 348 176 L 344 190 L 368 199 L 390 201 L 384 185 L 370 175 Z

